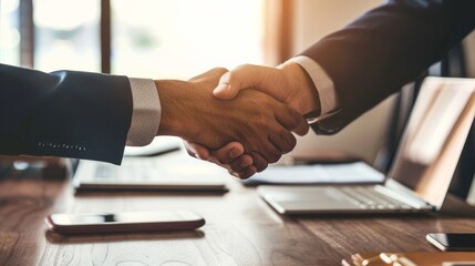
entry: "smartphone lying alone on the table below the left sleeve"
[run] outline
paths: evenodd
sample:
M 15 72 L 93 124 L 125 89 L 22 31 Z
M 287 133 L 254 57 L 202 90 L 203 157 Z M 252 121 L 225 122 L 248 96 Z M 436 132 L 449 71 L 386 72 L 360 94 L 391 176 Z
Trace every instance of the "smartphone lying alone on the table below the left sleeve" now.
M 205 219 L 190 211 L 51 214 L 44 219 L 60 234 L 96 234 L 128 232 L 193 231 Z

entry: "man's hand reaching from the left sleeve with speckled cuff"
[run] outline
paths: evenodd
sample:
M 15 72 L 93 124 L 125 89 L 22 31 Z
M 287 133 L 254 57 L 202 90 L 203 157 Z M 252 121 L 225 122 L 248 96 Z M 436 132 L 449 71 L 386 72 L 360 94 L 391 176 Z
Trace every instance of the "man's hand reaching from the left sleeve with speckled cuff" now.
M 159 135 L 176 135 L 208 149 L 240 142 L 246 153 L 276 162 L 291 151 L 290 131 L 306 133 L 308 124 L 293 109 L 255 90 L 244 90 L 230 101 L 213 95 L 226 72 L 215 69 L 184 81 L 156 81 L 162 104 Z

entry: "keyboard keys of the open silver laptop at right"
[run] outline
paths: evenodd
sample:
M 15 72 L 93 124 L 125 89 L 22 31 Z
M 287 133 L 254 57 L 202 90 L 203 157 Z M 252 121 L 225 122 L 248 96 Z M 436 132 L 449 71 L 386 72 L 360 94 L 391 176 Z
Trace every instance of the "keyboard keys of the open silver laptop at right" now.
M 361 208 L 371 209 L 409 209 L 410 205 L 384 195 L 368 186 L 343 186 L 338 190 Z

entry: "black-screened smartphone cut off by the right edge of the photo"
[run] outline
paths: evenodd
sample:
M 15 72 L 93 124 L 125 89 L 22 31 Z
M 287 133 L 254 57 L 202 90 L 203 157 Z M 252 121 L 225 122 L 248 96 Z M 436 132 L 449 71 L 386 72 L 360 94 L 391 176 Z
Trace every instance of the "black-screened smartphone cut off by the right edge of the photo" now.
M 469 252 L 475 250 L 475 233 L 432 233 L 427 234 L 425 238 L 438 249 L 443 252 L 459 250 Z

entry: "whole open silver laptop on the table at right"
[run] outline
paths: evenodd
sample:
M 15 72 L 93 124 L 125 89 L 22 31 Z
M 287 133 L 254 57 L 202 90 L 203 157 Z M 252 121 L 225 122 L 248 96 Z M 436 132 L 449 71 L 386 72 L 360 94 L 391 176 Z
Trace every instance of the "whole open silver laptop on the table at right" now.
M 442 207 L 475 116 L 475 79 L 426 78 L 382 184 L 271 186 L 281 214 L 419 213 Z

